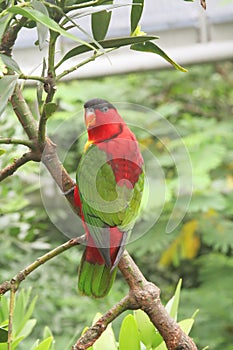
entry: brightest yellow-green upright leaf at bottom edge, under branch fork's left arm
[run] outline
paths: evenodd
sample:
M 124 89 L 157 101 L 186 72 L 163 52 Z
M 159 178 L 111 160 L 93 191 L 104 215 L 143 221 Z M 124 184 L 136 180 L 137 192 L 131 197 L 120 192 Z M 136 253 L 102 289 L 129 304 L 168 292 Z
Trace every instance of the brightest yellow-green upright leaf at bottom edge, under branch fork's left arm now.
M 140 350 L 140 337 L 133 315 L 127 315 L 121 325 L 119 350 Z

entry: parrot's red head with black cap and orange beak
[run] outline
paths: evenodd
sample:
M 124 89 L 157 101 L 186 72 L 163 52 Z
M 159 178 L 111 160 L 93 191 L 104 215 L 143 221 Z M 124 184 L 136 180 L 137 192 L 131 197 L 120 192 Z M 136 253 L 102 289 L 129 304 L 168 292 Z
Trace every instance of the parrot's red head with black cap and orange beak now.
M 89 141 L 101 142 L 121 133 L 125 122 L 111 103 L 94 98 L 84 108 Z

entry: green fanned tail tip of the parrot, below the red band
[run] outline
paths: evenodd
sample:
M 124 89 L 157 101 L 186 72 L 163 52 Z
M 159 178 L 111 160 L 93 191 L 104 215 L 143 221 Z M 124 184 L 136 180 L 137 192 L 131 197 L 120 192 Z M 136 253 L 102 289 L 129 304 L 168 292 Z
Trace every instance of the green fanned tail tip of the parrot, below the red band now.
M 95 298 L 104 297 L 110 291 L 116 276 L 106 265 L 91 264 L 83 256 L 79 268 L 78 289 L 82 294 Z

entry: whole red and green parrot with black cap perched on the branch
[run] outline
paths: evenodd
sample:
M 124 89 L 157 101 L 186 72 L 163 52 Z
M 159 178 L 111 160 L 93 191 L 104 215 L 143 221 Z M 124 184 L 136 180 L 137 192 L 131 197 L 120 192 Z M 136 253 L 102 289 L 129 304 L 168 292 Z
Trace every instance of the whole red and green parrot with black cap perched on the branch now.
M 113 104 L 93 98 L 84 111 L 88 139 L 74 188 L 86 235 L 78 289 L 101 298 L 112 287 L 138 217 L 145 172 L 137 139 Z

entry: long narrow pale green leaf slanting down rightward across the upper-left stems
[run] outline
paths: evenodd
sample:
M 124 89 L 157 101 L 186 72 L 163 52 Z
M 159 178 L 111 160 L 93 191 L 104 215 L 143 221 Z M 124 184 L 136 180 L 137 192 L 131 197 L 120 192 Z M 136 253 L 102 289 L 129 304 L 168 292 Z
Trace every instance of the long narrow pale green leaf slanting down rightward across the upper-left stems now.
M 18 6 L 12 6 L 8 9 L 8 12 L 19 14 L 21 16 L 24 16 L 26 18 L 29 18 L 33 21 L 39 22 L 43 25 L 45 25 L 47 28 L 53 30 L 56 33 L 59 33 L 71 40 L 74 40 L 76 42 L 81 43 L 84 46 L 88 46 L 89 48 L 93 49 L 92 45 L 79 39 L 73 34 L 68 33 L 65 29 L 61 28 L 59 24 L 57 24 L 52 18 L 44 15 L 40 11 L 34 10 L 32 8 L 22 8 Z

